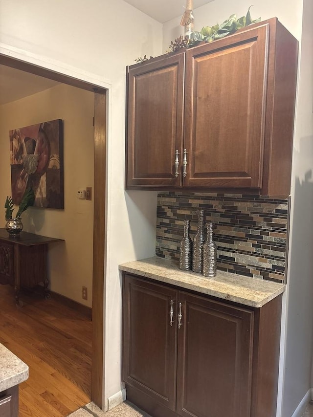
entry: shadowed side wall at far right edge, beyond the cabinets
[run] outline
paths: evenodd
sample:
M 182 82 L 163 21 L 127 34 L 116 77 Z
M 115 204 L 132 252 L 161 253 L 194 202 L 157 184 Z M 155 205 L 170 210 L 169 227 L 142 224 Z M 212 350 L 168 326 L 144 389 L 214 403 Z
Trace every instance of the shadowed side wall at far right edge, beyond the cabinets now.
M 313 387 L 313 3 L 304 0 L 295 121 L 282 416 Z

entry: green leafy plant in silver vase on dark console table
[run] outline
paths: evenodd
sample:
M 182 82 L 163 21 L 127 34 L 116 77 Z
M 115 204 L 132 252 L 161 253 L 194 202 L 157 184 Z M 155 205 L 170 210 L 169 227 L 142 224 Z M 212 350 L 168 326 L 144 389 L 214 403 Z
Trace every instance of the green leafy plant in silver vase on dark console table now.
M 12 197 L 7 196 L 4 204 L 5 208 L 5 229 L 13 237 L 20 236 L 22 232 L 23 224 L 21 219 L 21 214 L 27 210 L 28 207 L 34 205 L 35 194 L 32 188 L 27 188 L 23 194 L 23 197 L 20 202 L 20 207 L 16 213 L 16 217 L 12 217 L 14 211 L 14 204 L 12 202 Z

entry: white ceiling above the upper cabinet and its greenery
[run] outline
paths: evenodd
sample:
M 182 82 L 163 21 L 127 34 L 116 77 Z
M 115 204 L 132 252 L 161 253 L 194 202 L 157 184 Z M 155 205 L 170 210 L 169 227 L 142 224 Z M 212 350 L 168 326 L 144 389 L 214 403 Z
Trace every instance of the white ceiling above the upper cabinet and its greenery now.
M 148 16 L 160 23 L 167 22 L 184 13 L 186 0 L 124 0 L 131 4 L 136 9 L 141 10 Z M 203 4 L 210 3 L 213 0 L 194 0 L 194 9 L 203 6 Z

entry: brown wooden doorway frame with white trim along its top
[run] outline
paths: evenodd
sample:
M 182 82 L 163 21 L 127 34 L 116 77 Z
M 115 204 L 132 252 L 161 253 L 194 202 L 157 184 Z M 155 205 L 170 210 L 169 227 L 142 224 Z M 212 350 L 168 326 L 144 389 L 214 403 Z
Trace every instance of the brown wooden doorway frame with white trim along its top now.
M 97 80 L 92 74 L 67 70 L 42 59 L 34 59 L 20 50 L 0 47 L 0 64 L 49 78 L 73 87 L 86 89 L 95 95 L 94 128 L 94 212 L 93 212 L 93 273 L 92 273 L 92 354 L 91 400 L 101 409 L 104 406 L 104 335 L 106 286 L 106 136 L 107 90 L 111 85 Z M 33 61 L 33 62 L 31 62 Z M 35 63 L 36 62 L 36 63 Z M 38 65 L 39 63 L 39 65 Z M 48 66 L 53 67 L 49 69 Z M 65 73 L 67 72 L 67 73 Z M 74 73 L 75 76 L 70 74 Z M 79 78 L 77 78 L 77 76 Z

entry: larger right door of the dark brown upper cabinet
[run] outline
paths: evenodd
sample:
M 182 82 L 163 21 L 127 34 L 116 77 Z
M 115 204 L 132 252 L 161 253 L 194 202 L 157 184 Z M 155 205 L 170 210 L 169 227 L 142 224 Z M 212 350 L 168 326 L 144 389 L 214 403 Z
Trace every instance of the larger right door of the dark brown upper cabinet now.
M 261 188 L 268 24 L 186 52 L 185 186 Z

